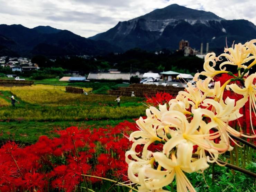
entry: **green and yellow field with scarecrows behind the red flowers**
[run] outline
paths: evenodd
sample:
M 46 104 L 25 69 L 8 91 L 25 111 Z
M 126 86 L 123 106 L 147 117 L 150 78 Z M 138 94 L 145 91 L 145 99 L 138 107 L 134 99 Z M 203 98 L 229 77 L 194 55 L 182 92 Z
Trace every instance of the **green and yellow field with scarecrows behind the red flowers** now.
M 11 106 L 11 95 L 19 101 L 15 107 Z M 39 136 L 54 136 L 56 129 L 115 126 L 145 115 L 143 98 L 121 97 L 121 107 L 117 107 L 115 99 L 113 95 L 92 92 L 66 93 L 65 87 L 59 85 L 0 87 L 0 140 L 32 144 Z

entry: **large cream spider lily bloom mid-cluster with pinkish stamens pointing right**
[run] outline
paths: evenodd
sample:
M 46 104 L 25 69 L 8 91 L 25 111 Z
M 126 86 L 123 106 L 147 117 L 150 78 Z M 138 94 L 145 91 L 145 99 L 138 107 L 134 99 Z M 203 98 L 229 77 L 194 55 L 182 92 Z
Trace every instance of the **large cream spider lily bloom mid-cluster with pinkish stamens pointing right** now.
M 225 138 L 225 140 L 228 140 L 228 137 L 225 135 L 225 132 L 223 133 L 223 131 L 217 131 L 212 134 L 206 134 L 205 132 L 204 134 L 200 134 L 198 130 L 201 129 L 200 126 L 206 126 L 203 129 L 209 132 L 210 129 L 216 127 L 218 124 L 214 121 L 208 124 L 202 124 L 202 109 L 195 109 L 192 110 L 192 112 L 194 116 L 190 123 L 186 119 L 186 116 L 179 111 L 169 111 L 163 115 L 161 120 L 163 125 L 169 125 L 176 129 L 176 135 L 172 136 L 172 138 L 163 146 L 163 153 L 168 156 L 176 145 L 185 141 L 190 141 L 194 145 L 198 145 L 202 149 L 207 150 L 211 157 L 214 158 L 213 161 L 216 161 L 218 154 L 228 150 L 229 145 L 226 145 L 223 148 L 220 147 L 220 145 L 215 145 L 213 142 L 210 142 L 210 140 L 220 136 Z

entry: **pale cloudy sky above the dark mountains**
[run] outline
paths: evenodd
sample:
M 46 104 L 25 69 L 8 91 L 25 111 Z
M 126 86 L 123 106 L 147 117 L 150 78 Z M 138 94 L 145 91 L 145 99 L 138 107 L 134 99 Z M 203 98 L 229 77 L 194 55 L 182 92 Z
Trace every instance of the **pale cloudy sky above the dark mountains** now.
M 90 37 L 157 8 L 177 3 L 211 11 L 225 19 L 247 19 L 256 25 L 255 0 L 0 0 L 0 24 L 67 29 Z

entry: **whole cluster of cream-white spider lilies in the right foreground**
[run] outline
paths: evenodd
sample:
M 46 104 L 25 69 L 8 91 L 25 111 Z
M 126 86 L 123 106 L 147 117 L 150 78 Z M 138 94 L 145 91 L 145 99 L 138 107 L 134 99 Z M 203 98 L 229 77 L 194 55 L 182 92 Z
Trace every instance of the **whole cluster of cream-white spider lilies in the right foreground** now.
M 209 53 L 205 57 L 204 70 L 195 75 L 196 85 L 187 83 L 185 91 L 180 91 L 175 99 L 167 104 L 146 109 L 146 119 L 140 117 L 136 123 L 139 130 L 130 134 L 130 141 L 134 143 L 126 152 L 128 163 L 128 176 L 132 183 L 138 184 L 141 192 L 165 191 L 162 188 L 169 185 L 174 177 L 177 191 L 195 191 L 185 173 L 203 172 L 209 167 L 209 163 L 217 163 L 218 156 L 227 150 L 232 150 L 229 134 L 234 136 L 255 137 L 238 132 L 228 125 L 229 121 L 243 116 L 239 109 L 250 100 L 250 109 L 255 112 L 255 78 L 256 73 L 248 76 L 249 69 L 256 64 L 256 39 L 250 42 L 237 44 L 232 48 L 226 48 L 225 53 L 216 57 Z M 220 57 L 226 57 L 227 61 L 219 65 L 220 71 L 216 71 L 217 61 Z M 238 76 L 226 71 L 223 65 L 237 65 Z M 215 82 L 214 88 L 209 88 L 215 75 L 227 73 L 234 78 L 228 80 L 222 86 Z M 198 80 L 199 75 L 207 78 Z M 244 84 L 240 88 L 232 82 L 240 81 Z M 223 91 L 231 89 L 243 98 L 236 101 L 227 98 L 223 101 Z M 251 112 L 251 111 L 250 111 Z M 251 114 L 250 114 L 251 115 Z M 206 120 L 207 119 L 207 120 Z M 215 131 L 211 131 L 213 129 Z M 219 138 L 219 142 L 214 139 Z M 162 143 L 162 151 L 150 151 L 151 144 Z M 197 145 L 193 156 L 193 146 Z M 141 151 L 137 152 L 138 146 Z

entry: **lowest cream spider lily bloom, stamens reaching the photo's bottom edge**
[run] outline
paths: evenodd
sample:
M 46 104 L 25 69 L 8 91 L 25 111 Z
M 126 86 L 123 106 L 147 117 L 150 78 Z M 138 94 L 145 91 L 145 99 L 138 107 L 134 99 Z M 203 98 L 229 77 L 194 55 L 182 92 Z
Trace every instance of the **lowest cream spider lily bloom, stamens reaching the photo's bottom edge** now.
M 194 171 L 204 170 L 208 168 L 209 165 L 205 158 L 191 162 L 192 151 L 193 144 L 185 142 L 177 145 L 177 157 L 174 152 L 171 154 L 170 158 L 161 152 L 153 153 L 155 161 L 158 163 L 158 168 L 155 170 L 153 167 L 144 166 L 143 169 L 141 169 L 141 175 L 140 173 L 138 175 L 138 177 L 141 178 L 141 185 L 149 189 L 162 188 L 172 183 L 176 175 L 178 192 L 185 192 L 188 191 L 188 189 L 191 192 L 195 191 L 183 171 L 192 173 Z M 161 170 L 161 167 L 165 170 Z

